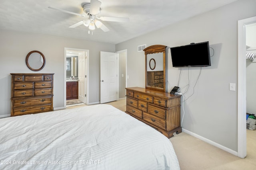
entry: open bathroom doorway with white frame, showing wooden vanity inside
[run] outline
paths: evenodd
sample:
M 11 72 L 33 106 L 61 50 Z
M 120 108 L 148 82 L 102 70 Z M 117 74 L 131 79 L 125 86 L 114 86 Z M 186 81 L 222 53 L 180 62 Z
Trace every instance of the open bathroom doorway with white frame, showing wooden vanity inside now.
M 64 106 L 88 103 L 89 50 L 65 48 Z

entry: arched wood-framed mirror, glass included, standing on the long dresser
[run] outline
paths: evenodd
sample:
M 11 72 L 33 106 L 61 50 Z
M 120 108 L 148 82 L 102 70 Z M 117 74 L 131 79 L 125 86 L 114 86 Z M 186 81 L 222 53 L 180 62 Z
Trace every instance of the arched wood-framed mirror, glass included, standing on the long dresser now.
M 165 92 L 165 49 L 164 45 L 152 45 L 144 49 L 146 89 Z

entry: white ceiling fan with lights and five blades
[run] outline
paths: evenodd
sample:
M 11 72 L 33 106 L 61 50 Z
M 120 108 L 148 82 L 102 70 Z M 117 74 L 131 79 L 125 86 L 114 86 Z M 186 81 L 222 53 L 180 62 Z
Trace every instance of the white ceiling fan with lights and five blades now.
M 48 7 L 50 9 L 53 10 L 58 10 L 60 12 L 66 12 L 68 14 L 73 14 L 73 15 L 77 15 L 77 16 L 82 16 L 85 17 L 86 19 L 79 21 L 78 23 L 75 23 L 71 26 L 69 26 L 69 28 L 75 28 L 79 25 L 84 24 L 86 27 L 88 27 L 90 30 L 94 30 L 95 29 L 95 25 L 97 28 L 102 29 L 102 31 L 107 32 L 109 31 L 108 27 L 106 27 L 101 21 L 116 21 L 116 22 L 127 22 L 129 21 L 129 18 L 121 18 L 121 17 L 98 17 L 98 14 L 100 14 L 100 8 L 101 6 L 101 2 L 98 0 L 91 0 L 90 3 L 85 3 L 83 5 L 83 9 L 84 12 L 86 14 L 78 14 L 78 13 L 74 13 L 74 12 L 70 12 L 70 11 L 66 11 L 66 10 L 61 10 L 58 8 L 53 8 L 53 7 Z

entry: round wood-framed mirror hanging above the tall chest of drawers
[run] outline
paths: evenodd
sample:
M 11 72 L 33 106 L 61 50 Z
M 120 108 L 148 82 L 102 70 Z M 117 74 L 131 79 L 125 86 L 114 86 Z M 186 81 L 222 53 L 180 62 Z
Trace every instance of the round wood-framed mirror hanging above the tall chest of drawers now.
M 26 65 L 32 71 L 39 71 L 44 68 L 45 57 L 40 51 L 30 51 L 26 57 Z

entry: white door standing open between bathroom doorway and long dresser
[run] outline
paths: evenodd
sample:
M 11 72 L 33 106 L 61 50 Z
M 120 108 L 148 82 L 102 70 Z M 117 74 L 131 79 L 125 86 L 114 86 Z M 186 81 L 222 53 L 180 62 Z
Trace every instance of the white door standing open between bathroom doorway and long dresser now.
M 100 103 L 117 100 L 118 54 L 100 52 Z

